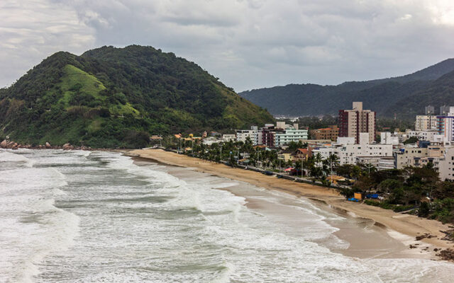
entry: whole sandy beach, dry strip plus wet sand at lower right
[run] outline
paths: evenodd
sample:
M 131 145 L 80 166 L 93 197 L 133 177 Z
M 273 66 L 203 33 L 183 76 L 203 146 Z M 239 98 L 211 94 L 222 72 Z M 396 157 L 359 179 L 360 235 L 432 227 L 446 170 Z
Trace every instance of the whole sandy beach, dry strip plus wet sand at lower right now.
M 338 195 L 336 190 L 326 187 L 277 179 L 273 176 L 231 168 L 220 163 L 203 161 L 160 149 L 135 150 L 130 151 L 129 154 L 160 163 L 192 168 L 201 173 L 231 178 L 268 190 L 308 198 L 317 207 L 350 219 L 350 221 L 343 222 L 326 220 L 328 224 L 339 229 L 334 232 L 338 238 L 350 243 L 347 249 L 338 249 L 338 252 L 345 255 L 358 258 L 435 258 L 433 248 L 454 247 L 453 243 L 441 240 L 444 234 L 440 231 L 450 229 L 447 225 L 413 215 L 398 214 L 380 207 L 346 202 L 345 198 Z M 245 192 L 236 187 L 227 187 L 225 190 L 245 197 L 248 202 L 246 205 L 251 209 L 282 214 L 282 209 L 275 207 L 276 204 L 264 202 L 260 197 L 254 196 L 253 192 Z M 289 212 L 289 209 L 286 209 L 285 213 L 289 214 L 288 219 L 294 217 L 293 212 Z M 424 233 L 430 233 L 437 238 L 414 240 L 416 236 Z M 329 242 L 322 244 L 329 247 Z M 417 248 L 410 249 L 409 245 L 416 245 Z M 331 249 L 336 250 L 336 248 Z

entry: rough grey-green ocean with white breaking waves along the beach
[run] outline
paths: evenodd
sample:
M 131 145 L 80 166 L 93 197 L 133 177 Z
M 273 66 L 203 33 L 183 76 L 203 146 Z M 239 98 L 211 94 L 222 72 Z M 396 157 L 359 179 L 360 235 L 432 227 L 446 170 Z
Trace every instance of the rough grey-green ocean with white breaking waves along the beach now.
M 354 221 L 309 200 L 115 152 L 0 149 L 0 282 L 454 278 L 448 262 L 341 253 L 351 243 L 338 226 Z

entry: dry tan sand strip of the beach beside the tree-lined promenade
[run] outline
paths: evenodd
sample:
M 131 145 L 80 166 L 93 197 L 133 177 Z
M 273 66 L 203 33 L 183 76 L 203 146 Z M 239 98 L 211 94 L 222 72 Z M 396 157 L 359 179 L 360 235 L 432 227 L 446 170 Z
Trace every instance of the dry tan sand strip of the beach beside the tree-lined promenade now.
M 323 205 L 326 206 L 326 209 L 336 209 L 338 212 L 348 214 L 349 216 L 356 216 L 360 219 L 371 219 L 375 222 L 375 225 L 390 229 L 389 234 L 404 243 L 406 247 L 416 243 L 416 248 L 411 250 L 413 254 L 421 253 L 421 255 L 431 254 L 433 256 L 435 254 L 433 248 L 444 249 L 454 247 L 454 243 L 442 240 L 445 234 L 441 231 L 449 230 L 450 227 L 448 225 L 441 224 L 441 222 L 435 220 L 419 218 L 418 216 L 399 214 L 392 212 L 392 210 L 372 207 L 367 204 L 346 202 L 345 198 L 339 195 L 336 190 L 331 190 L 326 187 L 277 179 L 274 176 L 267 176 L 253 171 L 245 171 L 239 168 L 231 168 L 220 163 L 204 161 L 199 158 L 179 155 L 161 149 L 140 149 L 129 151 L 128 154 L 131 154 L 131 156 L 152 159 L 153 161 L 173 166 L 192 168 L 194 171 L 239 180 L 268 190 L 277 190 L 287 192 L 297 197 L 306 197 L 310 200 L 321 202 L 319 205 L 322 207 Z M 341 229 L 341 231 L 338 232 L 338 236 L 341 238 L 355 236 L 349 235 L 348 232 L 345 231 L 348 230 Z M 416 236 L 421 236 L 426 233 L 436 237 L 423 238 L 421 242 L 414 240 Z M 360 248 L 361 245 L 358 243 L 356 248 L 353 247 L 353 251 L 350 249 L 350 252 L 354 252 L 355 255 L 358 255 Z M 423 250 L 423 248 L 426 249 Z

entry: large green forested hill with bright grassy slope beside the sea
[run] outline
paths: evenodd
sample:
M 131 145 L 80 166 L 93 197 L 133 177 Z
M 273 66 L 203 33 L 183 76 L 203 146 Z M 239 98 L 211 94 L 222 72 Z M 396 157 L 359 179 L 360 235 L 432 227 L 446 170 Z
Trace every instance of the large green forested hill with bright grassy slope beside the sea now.
M 140 147 L 272 120 L 196 64 L 137 45 L 57 52 L 0 90 L 0 136 L 31 144 Z

